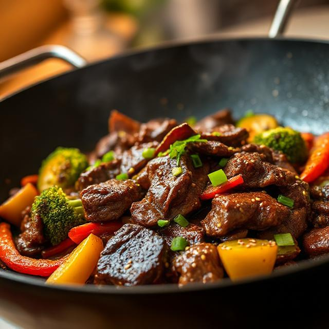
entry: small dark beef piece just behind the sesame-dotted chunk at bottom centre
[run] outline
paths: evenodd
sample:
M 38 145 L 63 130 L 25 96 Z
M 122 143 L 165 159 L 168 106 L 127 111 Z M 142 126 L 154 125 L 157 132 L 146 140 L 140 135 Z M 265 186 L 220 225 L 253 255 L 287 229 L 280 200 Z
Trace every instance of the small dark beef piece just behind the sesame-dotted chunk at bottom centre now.
M 187 227 L 181 227 L 179 224 L 169 225 L 159 229 L 157 233 L 166 240 L 168 247 L 176 236 L 185 237 L 190 245 L 205 241 L 204 229 L 195 224 L 189 224 Z

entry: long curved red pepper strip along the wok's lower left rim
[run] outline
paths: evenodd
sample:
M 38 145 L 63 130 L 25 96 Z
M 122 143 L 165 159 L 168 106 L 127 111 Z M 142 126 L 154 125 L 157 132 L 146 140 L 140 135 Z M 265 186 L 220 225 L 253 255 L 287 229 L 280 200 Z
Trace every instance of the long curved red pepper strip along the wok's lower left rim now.
M 9 224 L 0 223 L 0 260 L 12 270 L 33 276 L 49 277 L 65 259 L 66 257 L 63 257 L 51 261 L 22 256 L 16 249 Z

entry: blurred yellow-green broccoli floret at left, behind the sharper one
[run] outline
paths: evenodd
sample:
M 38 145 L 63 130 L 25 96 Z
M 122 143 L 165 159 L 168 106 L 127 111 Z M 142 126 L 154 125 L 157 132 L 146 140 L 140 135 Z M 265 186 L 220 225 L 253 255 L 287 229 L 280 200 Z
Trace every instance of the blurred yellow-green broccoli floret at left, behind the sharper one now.
M 88 160 L 78 149 L 57 148 L 43 160 L 39 170 L 38 189 L 50 186 L 73 187 L 79 175 L 88 167 Z

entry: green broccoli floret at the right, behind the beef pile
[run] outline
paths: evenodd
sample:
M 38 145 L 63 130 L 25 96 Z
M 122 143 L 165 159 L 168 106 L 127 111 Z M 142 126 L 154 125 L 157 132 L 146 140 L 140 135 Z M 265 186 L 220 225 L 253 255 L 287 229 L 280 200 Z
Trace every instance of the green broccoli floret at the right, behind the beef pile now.
M 307 147 L 301 134 L 289 127 L 277 127 L 254 137 L 256 144 L 282 151 L 292 163 L 301 163 L 307 159 Z

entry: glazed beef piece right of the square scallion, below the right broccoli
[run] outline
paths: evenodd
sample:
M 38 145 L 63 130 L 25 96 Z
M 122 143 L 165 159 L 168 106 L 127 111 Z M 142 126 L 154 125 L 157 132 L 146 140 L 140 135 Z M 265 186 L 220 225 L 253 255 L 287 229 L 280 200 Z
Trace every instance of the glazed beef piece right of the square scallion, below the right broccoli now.
M 269 185 L 287 186 L 296 181 L 294 173 L 266 161 L 259 153 L 236 153 L 227 162 L 224 172 L 227 178 L 241 174 L 243 187 L 263 188 Z

